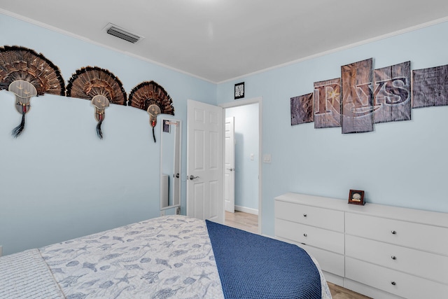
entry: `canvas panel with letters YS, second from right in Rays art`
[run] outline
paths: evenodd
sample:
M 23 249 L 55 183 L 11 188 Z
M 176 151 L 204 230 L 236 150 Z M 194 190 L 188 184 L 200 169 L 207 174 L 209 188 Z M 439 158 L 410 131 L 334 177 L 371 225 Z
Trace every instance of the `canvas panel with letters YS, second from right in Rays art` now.
M 411 119 L 411 62 L 375 69 L 374 123 Z

